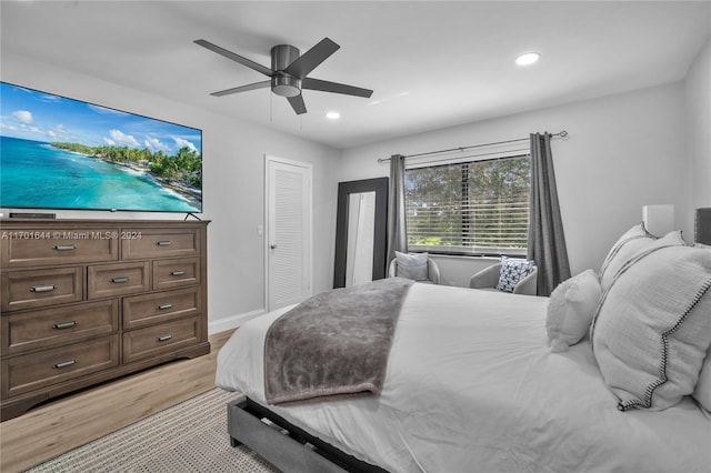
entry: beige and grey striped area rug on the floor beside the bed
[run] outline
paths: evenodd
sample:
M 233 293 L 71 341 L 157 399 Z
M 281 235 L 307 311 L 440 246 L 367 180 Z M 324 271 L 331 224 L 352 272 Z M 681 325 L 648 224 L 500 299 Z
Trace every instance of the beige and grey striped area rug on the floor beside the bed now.
M 227 403 L 213 389 L 71 450 L 28 472 L 279 472 L 227 433 Z

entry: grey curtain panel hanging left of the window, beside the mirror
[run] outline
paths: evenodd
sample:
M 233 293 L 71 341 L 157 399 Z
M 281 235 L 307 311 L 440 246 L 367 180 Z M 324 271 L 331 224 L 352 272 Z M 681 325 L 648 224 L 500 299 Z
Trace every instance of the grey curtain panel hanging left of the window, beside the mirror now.
M 404 157 L 390 157 L 390 181 L 388 192 L 388 263 L 395 251 L 408 252 L 408 230 L 404 210 Z

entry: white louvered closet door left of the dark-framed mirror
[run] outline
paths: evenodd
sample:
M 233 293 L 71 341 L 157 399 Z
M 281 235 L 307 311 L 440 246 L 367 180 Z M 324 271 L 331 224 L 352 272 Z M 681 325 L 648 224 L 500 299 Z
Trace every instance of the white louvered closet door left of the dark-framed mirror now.
M 267 308 L 311 295 L 311 167 L 267 160 Z

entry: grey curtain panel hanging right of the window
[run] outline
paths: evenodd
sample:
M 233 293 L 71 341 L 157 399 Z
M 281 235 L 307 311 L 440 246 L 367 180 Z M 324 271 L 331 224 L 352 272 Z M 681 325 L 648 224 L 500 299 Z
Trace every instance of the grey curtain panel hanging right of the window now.
M 538 265 L 538 295 L 570 278 L 550 133 L 531 133 L 531 204 L 528 258 Z

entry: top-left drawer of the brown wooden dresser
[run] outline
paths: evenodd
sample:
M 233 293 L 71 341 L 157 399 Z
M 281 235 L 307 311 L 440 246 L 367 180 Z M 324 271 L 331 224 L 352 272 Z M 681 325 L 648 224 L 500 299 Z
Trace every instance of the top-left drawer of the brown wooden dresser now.
M 0 241 L 2 268 L 92 263 L 119 259 L 118 229 L 11 229 Z

